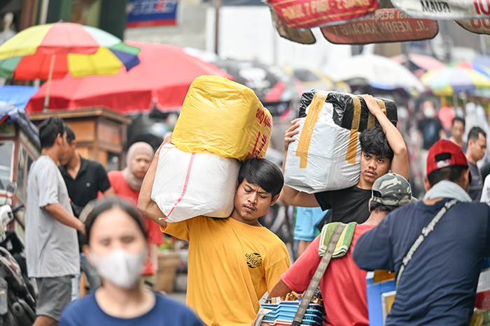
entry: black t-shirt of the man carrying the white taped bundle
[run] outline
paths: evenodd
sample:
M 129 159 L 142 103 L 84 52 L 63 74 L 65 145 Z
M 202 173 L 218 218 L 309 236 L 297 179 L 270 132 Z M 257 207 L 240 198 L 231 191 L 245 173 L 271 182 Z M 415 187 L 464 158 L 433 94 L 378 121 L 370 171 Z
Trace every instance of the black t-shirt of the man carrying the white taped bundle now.
M 315 198 L 321 209 L 331 209 L 332 215 L 328 216 L 331 221 L 360 224 L 367 221 L 370 216 L 369 205 L 367 205 L 371 198 L 370 189 L 351 186 L 346 189 L 315 193 Z

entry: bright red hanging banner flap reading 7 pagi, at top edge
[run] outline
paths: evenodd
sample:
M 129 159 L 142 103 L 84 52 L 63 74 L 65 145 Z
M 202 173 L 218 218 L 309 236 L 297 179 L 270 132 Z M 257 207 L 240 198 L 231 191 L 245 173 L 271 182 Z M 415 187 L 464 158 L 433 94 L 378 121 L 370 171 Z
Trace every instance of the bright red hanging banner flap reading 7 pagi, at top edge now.
M 377 0 L 267 0 L 288 27 L 341 24 L 370 15 Z

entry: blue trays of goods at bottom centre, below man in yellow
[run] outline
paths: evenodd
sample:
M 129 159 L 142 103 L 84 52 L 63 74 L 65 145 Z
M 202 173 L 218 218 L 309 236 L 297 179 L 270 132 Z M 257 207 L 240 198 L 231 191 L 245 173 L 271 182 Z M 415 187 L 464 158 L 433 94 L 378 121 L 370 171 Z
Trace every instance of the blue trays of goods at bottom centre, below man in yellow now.
M 264 309 L 261 326 L 283 326 L 291 325 L 296 315 L 296 311 L 300 306 L 301 299 L 297 299 L 295 295 L 288 294 L 286 298 L 267 299 L 265 304 L 260 306 Z M 325 323 L 325 309 L 321 299 L 313 298 L 308 306 L 306 313 L 302 319 L 301 325 L 318 325 Z

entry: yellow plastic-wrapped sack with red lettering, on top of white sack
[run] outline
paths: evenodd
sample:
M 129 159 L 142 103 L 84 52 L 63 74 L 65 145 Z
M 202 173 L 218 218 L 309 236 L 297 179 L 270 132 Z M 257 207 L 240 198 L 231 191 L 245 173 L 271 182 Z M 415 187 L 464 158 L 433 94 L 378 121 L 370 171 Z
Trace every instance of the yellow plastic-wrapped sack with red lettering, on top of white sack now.
M 216 76 L 197 77 L 190 85 L 172 143 L 181 151 L 207 150 L 246 161 L 263 158 L 272 131 L 272 115 L 248 87 Z

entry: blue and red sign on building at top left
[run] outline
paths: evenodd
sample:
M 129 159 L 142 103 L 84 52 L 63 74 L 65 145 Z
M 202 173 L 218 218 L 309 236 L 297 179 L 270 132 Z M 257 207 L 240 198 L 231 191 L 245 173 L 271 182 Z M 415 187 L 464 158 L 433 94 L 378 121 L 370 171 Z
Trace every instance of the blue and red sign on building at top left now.
M 175 25 L 178 0 L 128 0 L 126 27 Z

